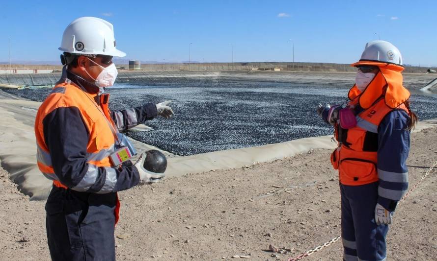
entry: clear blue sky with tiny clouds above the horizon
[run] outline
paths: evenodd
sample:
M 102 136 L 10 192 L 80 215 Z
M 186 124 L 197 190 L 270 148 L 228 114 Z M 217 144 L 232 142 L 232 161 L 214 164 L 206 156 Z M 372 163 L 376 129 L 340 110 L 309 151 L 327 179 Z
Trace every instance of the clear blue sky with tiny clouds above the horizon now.
M 368 41 L 396 45 L 406 64 L 437 64 L 437 2 L 420 0 L 1 0 L 0 62 L 55 61 L 81 16 L 114 24 L 117 47 L 143 61 L 352 63 Z

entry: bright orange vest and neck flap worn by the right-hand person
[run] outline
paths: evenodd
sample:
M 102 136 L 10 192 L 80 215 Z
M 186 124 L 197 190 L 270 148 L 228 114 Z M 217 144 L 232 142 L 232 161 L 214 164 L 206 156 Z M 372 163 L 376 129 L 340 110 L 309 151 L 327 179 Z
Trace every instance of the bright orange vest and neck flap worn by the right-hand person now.
M 335 126 L 338 147 L 331 154 L 331 164 L 338 169 L 343 185 L 358 186 L 373 183 L 378 178 L 378 126 L 393 110 L 404 110 L 410 115 L 404 102 L 410 97 L 402 86 L 402 67 L 373 63 L 380 72 L 361 93 L 354 87 L 349 92 L 351 101 L 347 107 L 360 106 L 364 110 L 355 116 L 357 125 L 351 129 Z

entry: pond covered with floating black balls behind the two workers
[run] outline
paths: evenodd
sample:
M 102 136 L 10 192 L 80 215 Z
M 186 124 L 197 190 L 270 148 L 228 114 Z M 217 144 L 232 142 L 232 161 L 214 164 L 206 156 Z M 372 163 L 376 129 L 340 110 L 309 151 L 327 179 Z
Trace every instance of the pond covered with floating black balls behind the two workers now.
M 172 100 L 174 116 L 146 124 L 151 131 L 129 131 L 131 138 L 177 155 L 259 146 L 306 137 L 331 135 L 332 127 L 316 114 L 320 103 L 346 101 L 345 86 L 280 82 L 178 80 L 135 82 L 108 88 L 110 109 Z M 43 101 L 50 89 L 7 90 Z M 419 119 L 437 118 L 437 99 L 412 95 L 411 109 Z

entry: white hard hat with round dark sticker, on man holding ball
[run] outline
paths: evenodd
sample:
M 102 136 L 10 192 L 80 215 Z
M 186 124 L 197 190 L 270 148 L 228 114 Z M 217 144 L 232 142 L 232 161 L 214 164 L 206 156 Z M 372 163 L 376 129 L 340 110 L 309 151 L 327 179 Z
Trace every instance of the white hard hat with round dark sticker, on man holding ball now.
M 115 48 L 112 24 L 97 17 L 81 17 L 71 22 L 65 28 L 61 47 L 58 49 L 81 55 L 126 56 L 126 53 Z

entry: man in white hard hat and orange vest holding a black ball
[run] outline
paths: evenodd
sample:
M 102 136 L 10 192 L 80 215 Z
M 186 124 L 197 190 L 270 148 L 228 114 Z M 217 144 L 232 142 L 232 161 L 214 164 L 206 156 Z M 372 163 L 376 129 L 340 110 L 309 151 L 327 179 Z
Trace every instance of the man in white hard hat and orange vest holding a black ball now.
M 47 238 L 52 260 L 115 260 L 117 191 L 156 183 L 164 174 L 132 164 L 135 149 L 119 131 L 156 116 L 169 118 L 168 102 L 109 111 L 117 70 L 109 22 L 82 17 L 67 26 L 59 47 L 62 78 L 42 103 L 35 120 L 38 167 L 53 180 L 46 203 Z

